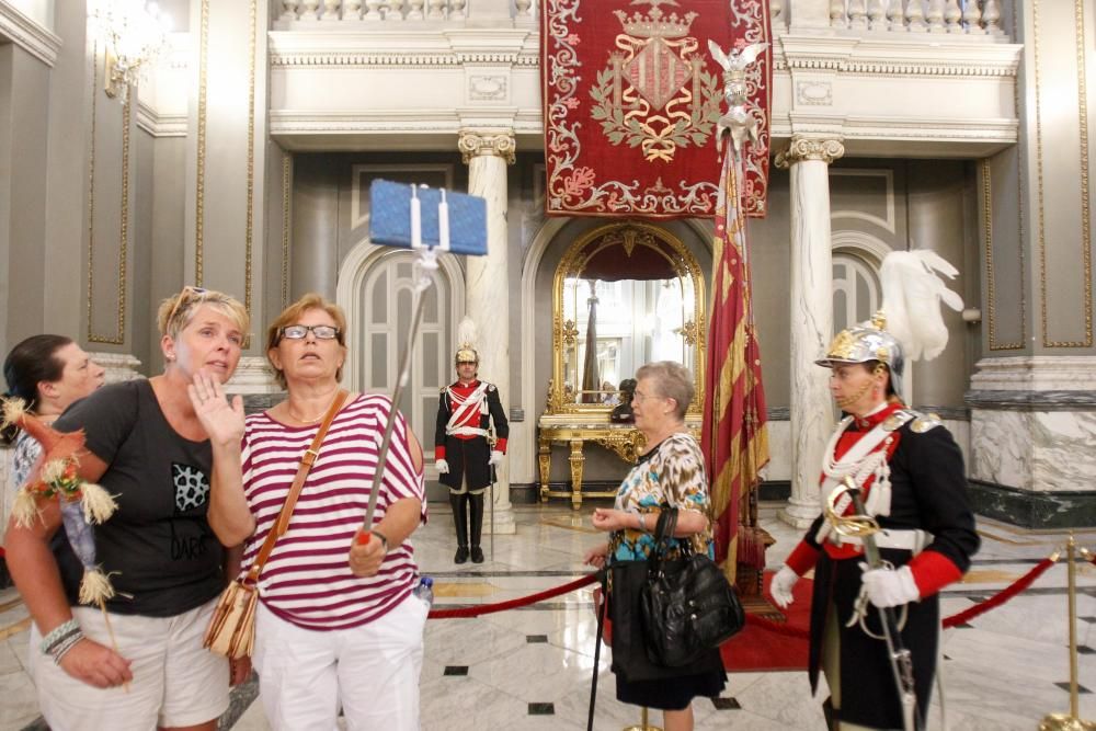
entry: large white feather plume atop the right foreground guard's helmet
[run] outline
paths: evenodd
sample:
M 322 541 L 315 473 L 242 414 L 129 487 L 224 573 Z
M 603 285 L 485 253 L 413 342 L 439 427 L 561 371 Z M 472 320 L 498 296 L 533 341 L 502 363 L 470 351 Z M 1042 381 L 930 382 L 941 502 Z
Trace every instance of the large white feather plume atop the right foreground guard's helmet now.
M 959 311 L 962 299 L 947 288 L 940 274 L 959 273 L 943 256 L 927 249 L 893 251 L 883 259 L 879 276 L 883 289 L 886 330 L 910 361 L 932 361 L 948 344 L 940 302 Z

